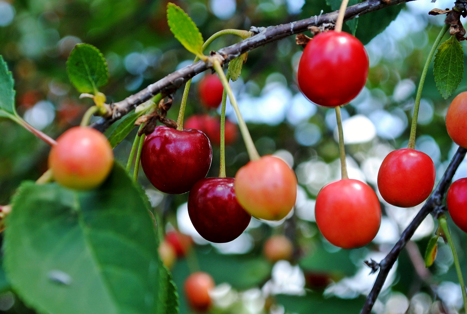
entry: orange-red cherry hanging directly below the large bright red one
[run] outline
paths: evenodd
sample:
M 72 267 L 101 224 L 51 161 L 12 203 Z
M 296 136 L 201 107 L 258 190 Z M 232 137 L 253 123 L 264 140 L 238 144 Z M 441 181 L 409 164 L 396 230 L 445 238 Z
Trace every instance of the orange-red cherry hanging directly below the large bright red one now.
M 319 230 L 329 242 L 354 249 L 375 238 L 381 223 L 381 206 L 368 184 L 344 179 L 319 191 L 315 216 Z

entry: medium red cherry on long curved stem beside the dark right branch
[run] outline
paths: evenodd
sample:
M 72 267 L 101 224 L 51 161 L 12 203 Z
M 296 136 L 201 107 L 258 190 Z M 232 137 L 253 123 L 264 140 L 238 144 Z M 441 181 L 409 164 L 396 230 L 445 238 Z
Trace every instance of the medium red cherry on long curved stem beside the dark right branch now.
M 391 205 L 413 207 L 432 193 L 436 169 L 432 159 L 415 149 L 390 152 L 378 172 L 378 189 Z

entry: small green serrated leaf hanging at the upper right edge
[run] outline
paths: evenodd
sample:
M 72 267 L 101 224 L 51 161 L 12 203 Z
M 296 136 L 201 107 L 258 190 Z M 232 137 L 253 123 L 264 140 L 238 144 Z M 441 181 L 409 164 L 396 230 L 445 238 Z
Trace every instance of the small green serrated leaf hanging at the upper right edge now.
M 436 52 L 433 75 L 436 87 L 444 99 L 456 91 L 464 74 L 464 51 L 453 35 Z

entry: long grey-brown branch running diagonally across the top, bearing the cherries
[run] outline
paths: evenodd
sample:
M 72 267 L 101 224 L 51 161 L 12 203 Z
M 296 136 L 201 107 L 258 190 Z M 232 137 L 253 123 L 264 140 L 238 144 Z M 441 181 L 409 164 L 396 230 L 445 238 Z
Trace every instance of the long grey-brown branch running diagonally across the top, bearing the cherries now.
M 344 20 L 351 20 L 354 17 L 369 12 L 377 11 L 385 7 L 390 7 L 399 3 L 405 3 L 412 0 L 367 0 L 358 3 L 354 6 L 347 7 L 344 15 Z M 256 35 L 251 36 L 241 42 L 233 44 L 231 46 L 219 49 L 217 54 L 222 56 L 224 59 L 223 63 L 228 63 L 230 60 L 242 53 L 248 52 L 255 48 L 261 47 L 267 43 L 275 42 L 284 37 L 302 33 L 310 26 L 320 26 L 323 24 L 334 24 L 337 19 L 338 11 L 334 11 L 319 16 L 312 16 L 304 20 L 295 21 L 287 24 L 281 24 L 276 26 L 269 26 L 267 28 L 255 28 L 252 27 L 251 31 Z M 183 69 L 177 70 L 166 77 L 163 77 L 154 84 L 149 85 L 145 89 L 137 92 L 125 98 L 122 101 L 113 104 L 112 116 L 109 118 L 102 118 L 92 124 L 92 127 L 99 131 L 105 131 L 113 122 L 126 115 L 129 111 L 135 108 L 137 105 L 144 103 L 151 97 L 162 92 L 165 95 L 169 95 L 179 89 L 186 81 L 195 75 L 212 68 L 212 64 L 205 63 L 204 61 L 198 61 Z

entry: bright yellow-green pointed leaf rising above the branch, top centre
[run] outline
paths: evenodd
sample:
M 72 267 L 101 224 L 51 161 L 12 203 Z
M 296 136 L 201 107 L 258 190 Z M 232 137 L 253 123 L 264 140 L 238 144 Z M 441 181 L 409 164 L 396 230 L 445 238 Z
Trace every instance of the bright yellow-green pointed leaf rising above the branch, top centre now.
M 167 23 L 175 38 L 188 51 L 197 56 L 203 55 L 203 35 L 188 14 L 171 2 L 167 4 Z

